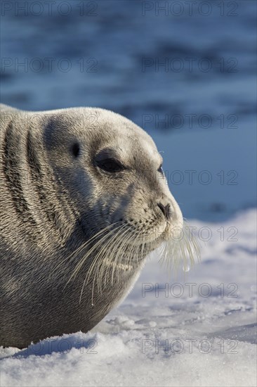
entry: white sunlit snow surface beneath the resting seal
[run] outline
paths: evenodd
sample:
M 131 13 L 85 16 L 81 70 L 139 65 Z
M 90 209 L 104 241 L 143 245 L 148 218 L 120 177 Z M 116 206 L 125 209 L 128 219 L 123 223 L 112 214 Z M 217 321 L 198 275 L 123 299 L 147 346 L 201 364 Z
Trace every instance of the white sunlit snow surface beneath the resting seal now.
M 256 210 L 190 224 L 201 263 L 169 278 L 153 253 L 93 331 L 1 348 L 1 387 L 256 386 Z

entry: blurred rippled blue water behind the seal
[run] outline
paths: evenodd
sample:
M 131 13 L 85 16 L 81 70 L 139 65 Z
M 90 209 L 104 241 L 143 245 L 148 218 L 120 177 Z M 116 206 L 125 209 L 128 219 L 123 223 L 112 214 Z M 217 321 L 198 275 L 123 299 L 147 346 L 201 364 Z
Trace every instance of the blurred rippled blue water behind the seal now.
M 1 1 L 2 102 L 130 118 L 185 217 L 256 205 L 256 1 L 48 3 Z

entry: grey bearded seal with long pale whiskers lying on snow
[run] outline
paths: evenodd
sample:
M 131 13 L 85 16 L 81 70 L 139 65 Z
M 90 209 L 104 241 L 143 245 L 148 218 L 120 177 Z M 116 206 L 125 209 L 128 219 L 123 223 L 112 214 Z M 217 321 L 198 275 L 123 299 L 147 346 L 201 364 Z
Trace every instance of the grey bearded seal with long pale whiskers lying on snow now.
M 1 345 L 92 329 L 174 227 L 183 217 L 143 129 L 101 108 L 1 105 Z

